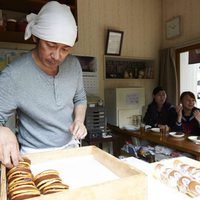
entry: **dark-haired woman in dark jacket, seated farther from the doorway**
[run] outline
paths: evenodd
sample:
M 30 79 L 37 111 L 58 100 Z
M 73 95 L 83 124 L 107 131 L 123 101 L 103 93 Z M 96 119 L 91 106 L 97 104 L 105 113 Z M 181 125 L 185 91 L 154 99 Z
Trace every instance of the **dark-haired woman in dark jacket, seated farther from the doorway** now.
M 160 86 L 154 88 L 152 96 L 153 101 L 148 105 L 143 122 L 151 127 L 159 127 L 169 131 L 175 126 L 175 107 L 166 101 L 167 94 Z

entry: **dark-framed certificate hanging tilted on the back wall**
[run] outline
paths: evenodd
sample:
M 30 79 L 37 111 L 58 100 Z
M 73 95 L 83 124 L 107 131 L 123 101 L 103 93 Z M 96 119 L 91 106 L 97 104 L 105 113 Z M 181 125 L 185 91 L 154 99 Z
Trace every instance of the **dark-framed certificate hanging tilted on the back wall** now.
M 106 55 L 119 56 L 121 54 L 123 34 L 123 31 L 108 30 L 105 50 Z

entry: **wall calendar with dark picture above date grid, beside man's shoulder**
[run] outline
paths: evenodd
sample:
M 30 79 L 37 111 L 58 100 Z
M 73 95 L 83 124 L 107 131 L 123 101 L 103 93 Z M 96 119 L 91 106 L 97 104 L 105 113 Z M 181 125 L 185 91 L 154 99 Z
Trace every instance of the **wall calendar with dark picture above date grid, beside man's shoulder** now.
M 76 56 L 83 70 L 83 83 L 87 93 L 90 95 L 99 95 L 99 81 L 97 58 L 91 56 Z

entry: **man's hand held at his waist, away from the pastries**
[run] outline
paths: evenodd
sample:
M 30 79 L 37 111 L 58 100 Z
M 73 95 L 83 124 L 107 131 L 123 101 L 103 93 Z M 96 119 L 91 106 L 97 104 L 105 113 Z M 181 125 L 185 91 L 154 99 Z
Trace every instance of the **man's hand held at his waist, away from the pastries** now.
M 71 124 L 69 130 L 76 139 L 84 139 L 87 135 L 87 129 L 84 123 L 79 120 L 75 120 Z

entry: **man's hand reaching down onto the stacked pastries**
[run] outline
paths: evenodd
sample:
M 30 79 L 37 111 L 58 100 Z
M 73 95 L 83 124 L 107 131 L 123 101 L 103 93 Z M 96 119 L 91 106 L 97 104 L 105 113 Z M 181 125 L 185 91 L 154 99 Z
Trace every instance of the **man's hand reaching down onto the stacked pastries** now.
M 23 160 L 15 134 L 7 127 L 0 127 L 0 161 L 7 168 L 17 166 Z

